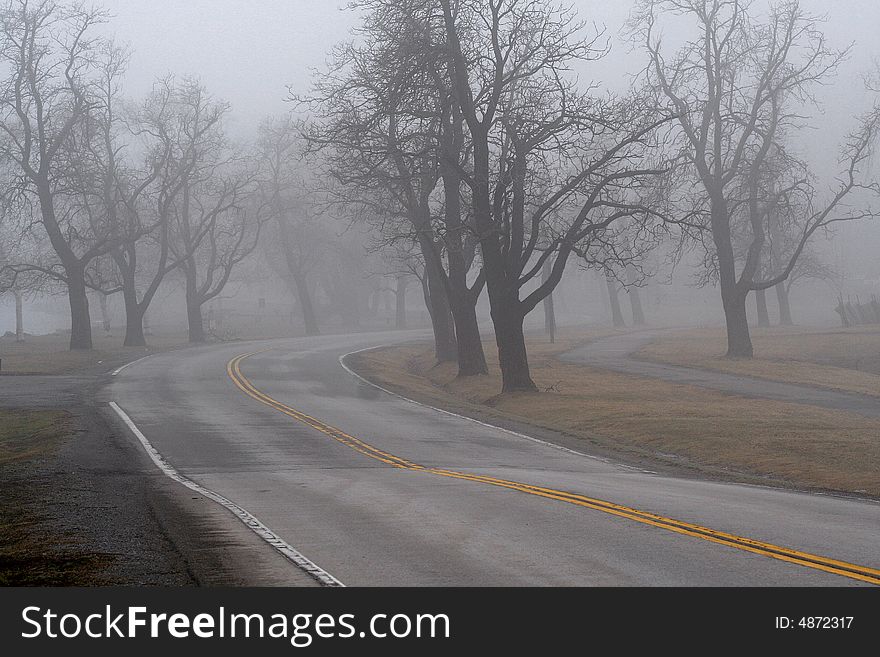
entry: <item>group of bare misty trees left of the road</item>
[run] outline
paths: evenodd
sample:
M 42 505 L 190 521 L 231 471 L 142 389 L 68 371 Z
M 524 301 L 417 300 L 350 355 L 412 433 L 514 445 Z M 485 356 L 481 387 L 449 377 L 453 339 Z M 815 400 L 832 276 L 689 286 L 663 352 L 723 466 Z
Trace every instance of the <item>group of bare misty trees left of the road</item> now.
M 254 251 L 271 216 L 262 154 L 226 135 L 226 103 L 196 80 L 120 96 L 128 54 L 98 36 L 106 15 L 11 0 L 0 9 L 0 285 L 63 289 L 72 349 L 92 347 L 87 292 L 121 294 L 126 346 L 179 275 L 189 338 L 202 307 Z

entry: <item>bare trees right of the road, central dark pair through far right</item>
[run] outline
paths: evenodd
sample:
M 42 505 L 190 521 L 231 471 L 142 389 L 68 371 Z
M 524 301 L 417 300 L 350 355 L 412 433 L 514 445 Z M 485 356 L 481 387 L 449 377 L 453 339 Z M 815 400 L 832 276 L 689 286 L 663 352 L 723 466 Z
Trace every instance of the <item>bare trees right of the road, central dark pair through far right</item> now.
M 356 38 L 298 100 L 329 203 L 421 257 L 438 360 L 486 371 L 488 292 L 504 391 L 533 390 L 523 320 L 578 258 L 633 284 L 665 236 L 702 250 L 728 354 L 749 357 L 746 298 L 796 271 L 810 238 L 873 216 L 866 108 L 822 183 L 793 137 L 847 51 L 796 0 L 640 0 L 629 92 L 579 83 L 601 32 L 545 0 L 359 0 Z M 675 50 L 664 21 L 689 26 Z M 401 244 L 403 246 L 401 246 Z M 574 258 L 573 258 L 574 257 Z

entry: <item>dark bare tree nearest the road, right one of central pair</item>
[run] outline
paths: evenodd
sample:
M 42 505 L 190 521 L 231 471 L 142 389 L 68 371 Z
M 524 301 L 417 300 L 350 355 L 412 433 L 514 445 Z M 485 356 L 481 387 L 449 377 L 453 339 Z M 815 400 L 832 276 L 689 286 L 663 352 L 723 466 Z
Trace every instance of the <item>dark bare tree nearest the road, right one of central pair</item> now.
M 535 390 L 525 316 L 559 283 L 577 245 L 616 220 L 653 211 L 643 202 L 662 172 L 646 157 L 665 122 L 640 99 L 579 91 L 569 68 L 606 52 L 570 10 L 541 0 L 440 0 L 455 99 L 467 125 L 474 223 L 501 365 L 503 391 Z M 550 235 L 547 243 L 542 239 Z M 520 298 L 521 288 L 547 279 Z

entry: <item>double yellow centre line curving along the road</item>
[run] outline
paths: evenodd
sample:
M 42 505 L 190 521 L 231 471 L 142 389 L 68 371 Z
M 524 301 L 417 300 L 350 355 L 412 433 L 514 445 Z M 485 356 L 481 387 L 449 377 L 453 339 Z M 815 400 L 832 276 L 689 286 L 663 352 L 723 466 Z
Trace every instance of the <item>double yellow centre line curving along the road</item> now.
M 736 548 L 738 550 L 744 550 L 753 554 L 760 554 L 762 556 L 778 559 L 787 563 L 793 563 L 800 566 L 805 566 L 807 568 L 812 568 L 814 570 L 821 570 L 823 572 L 841 575 L 843 577 L 849 577 L 851 579 L 856 579 L 862 582 L 880 585 L 880 570 L 876 568 L 869 568 L 867 566 L 860 566 L 857 564 L 848 563 L 846 561 L 830 559 L 828 557 L 811 554 L 809 552 L 800 552 L 798 550 L 792 550 L 790 548 L 781 547 L 772 543 L 764 543 L 762 541 L 737 536 L 736 534 L 728 534 L 726 532 L 717 531 L 708 527 L 703 527 L 701 525 L 696 525 L 681 520 L 675 520 L 674 518 L 667 518 L 665 516 L 650 513 L 648 511 L 641 511 L 632 507 L 615 504 L 613 502 L 606 502 L 605 500 L 595 499 L 577 493 L 570 493 L 566 491 L 555 490 L 552 488 L 543 488 L 541 486 L 535 486 L 518 481 L 510 481 L 507 479 L 499 479 L 487 475 L 469 474 L 465 472 L 457 472 L 455 470 L 429 468 L 423 465 L 419 465 L 418 463 L 414 463 L 413 461 L 409 461 L 394 454 L 390 454 L 389 452 L 385 452 L 373 445 L 370 445 L 369 443 L 360 440 L 359 438 L 355 438 L 354 436 L 327 424 L 326 422 L 322 422 L 321 420 L 312 417 L 311 415 L 307 415 L 302 411 L 298 411 L 297 409 L 288 406 L 287 404 L 284 404 L 277 399 L 273 399 L 269 395 L 257 390 L 257 388 L 255 388 L 254 385 L 248 380 L 248 378 L 244 374 L 242 374 L 240 367 L 242 361 L 244 361 L 246 358 L 249 358 L 250 356 L 253 356 L 256 353 L 262 352 L 252 352 L 236 356 L 226 365 L 226 373 L 229 375 L 229 378 L 232 380 L 232 382 L 242 392 L 244 392 L 249 397 L 256 399 L 257 401 L 266 404 L 267 406 L 270 406 L 281 413 L 284 413 L 285 415 L 297 420 L 298 422 L 302 422 L 303 424 L 317 429 L 321 433 L 342 443 L 346 447 L 350 447 L 351 449 L 354 449 L 364 456 L 375 459 L 377 461 L 381 461 L 382 463 L 385 463 L 387 465 L 391 465 L 393 467 L 401 468 L 404 470 L 424 472 L 441 477 L 449 477 L 452 479 L 461 479 L 465 481 L 488 484 L 490 486 L 498 486 L 501 488 L 507 488 L 510 490 L 527 493 L 529 495 L 558 500 L 560 502 L 567 502 L 569 504 L 593 509 L 595 511 L 601 511 L 602 513 L 626 518 L 628 520 L 633 520 L 635 522 L 650 525 L 652 527 L 665 529 L 667 531 L 675 532 L 677 534 L 700 538 L 704 541 L 717 543 L 719 545 L 725 545 L 727 547 Z

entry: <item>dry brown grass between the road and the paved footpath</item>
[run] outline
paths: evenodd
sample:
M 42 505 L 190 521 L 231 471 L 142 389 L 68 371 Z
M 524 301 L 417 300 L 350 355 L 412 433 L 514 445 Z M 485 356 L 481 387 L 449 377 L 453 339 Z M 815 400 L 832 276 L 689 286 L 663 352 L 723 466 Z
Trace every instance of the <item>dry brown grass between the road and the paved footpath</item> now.
M 359 355 L 366 376 L 409 397 L 459 412 L 523 421 L 603 449 L 712 473 L 770 478 L 814 489 L 880 495 L 880 422 L 844 412 L 750 400 L 655 379 L 564 363 L 557 345 L 532 340 L 538 393 L 499 395 L 500 375 L 457 380 L 428 347 Z

